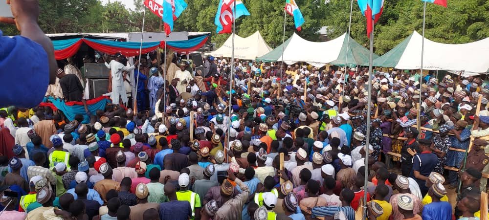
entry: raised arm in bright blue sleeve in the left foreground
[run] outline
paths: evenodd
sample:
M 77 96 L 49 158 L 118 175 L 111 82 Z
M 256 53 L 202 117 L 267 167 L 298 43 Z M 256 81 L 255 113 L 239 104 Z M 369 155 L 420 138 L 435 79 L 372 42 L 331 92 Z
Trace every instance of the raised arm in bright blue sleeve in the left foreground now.
M 54 84 L 58 65 L 51 40 L 37 24 L 39 3 L 10 1 L 10 9 L 15 20 L 0 17 L 0 22 L 16 24 L 21 35 L 10 38 L 0 31 L 0 82 L 8 82 L 3 84 L 0 106 L 31 108 L 43 100 L 48 84 Z

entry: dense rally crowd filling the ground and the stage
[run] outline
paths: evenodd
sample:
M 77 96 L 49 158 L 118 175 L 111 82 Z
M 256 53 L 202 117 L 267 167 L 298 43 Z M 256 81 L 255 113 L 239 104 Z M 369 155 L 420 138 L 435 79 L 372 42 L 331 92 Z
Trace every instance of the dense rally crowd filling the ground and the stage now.
M 364 208 L 370 220 L 479 219 L 489 170 L 485 76 L 375 71 L 377 117 L 367 124 L 365 67 L 236 60 L 229 79 L 223 58 L 203 58 L 196 72 L 175 56 L 164 88 L 162 66 L 110 59 L 96 62 L 111 68 L 114 104 L 89 124 L 48 107 L 0 110 L 0 219 L 355 220 Z M 119 105 L 134 68 L 138 112 Z M 83 78 L 67 72 L 48 95 L 79 101 Z M 420 96 L 430 130 L 416 128 Z M 392 162 L 400 173 L 387 170 Z M 453 209 L 446 188 L 460 182 Z

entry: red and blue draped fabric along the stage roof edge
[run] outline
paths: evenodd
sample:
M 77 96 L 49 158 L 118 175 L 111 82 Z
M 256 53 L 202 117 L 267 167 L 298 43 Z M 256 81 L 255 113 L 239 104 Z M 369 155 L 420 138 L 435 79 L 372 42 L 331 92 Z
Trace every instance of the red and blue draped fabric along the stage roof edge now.
M 200 36 L 186 41 L 172 41 L 168 42 L 167 48 L 178 52 L 188 52 L 199 49 L 207 40 L 209 36 Z M 118 42 L 118 41 L 104 41 L 88 38 L 74 38 L 68 40 L 55 40 L 52 41 L 54 46 L 54 56 L 56 60 L 66 59 L 73 56 L 82 43 L 85 43 L 95 50 L 103 53 L 115 54 L 120 52 L 125 56 L 139 55 L 139 47 L 141 43 L 138 42 Z M 141 53 L 148 53 L 155 50 L 158 46 L 165 46 L 165 42 L 147 42 L 143 43 Z

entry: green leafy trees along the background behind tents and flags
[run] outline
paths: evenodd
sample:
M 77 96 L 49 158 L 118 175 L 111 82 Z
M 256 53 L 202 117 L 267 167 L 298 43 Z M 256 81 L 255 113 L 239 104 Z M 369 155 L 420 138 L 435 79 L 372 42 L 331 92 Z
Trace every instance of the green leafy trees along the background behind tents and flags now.
M 178 18 L 175 31 L 211 32 L 212 42 L 221 45 L 229 36 L 216 34 L 214 18 L 219 0 L 186 0 L 188 8 Z M 143 0 L 134 0 L 135 10 L 120 1 L 103 5 L 100 0 L 39 0 L 39 24 L 46 33 L 69 32 L 138 32 L 141 31 Z M 242 37 L 260 30 L 265 41 L 276 47 L 282 44 L 284 0 L 244 0 L 250 16 L 236 22 L 236 33 Z M 330 39 L 348 30 L 350 0 L 296 0 L 304 18 L 302 31 L 296 31 L 293 18 L 287 15 L 286 40 L 295 31 L 301 37 L 318 41 L 317 31 L 328 26 Z M 161 30 L 161 21 L 146 11 L 145 31 Z M 399 44 L 413 30 L 422 32 L 421 0 L 388 0 L 375 26 L 375 52 L 383 54 Z M 426 38 L 447 44 L 462 44 L 489 37 L 489 1 L 448 0 L 448 8 L 435 4 L 426 7 Z M 4 35 L 19 34 L 13 25 L 0 24 Z M 367 45 L 365 17 L 353 4 L 352 37 Z M 327 51 L 325 51 L 327 52 Z

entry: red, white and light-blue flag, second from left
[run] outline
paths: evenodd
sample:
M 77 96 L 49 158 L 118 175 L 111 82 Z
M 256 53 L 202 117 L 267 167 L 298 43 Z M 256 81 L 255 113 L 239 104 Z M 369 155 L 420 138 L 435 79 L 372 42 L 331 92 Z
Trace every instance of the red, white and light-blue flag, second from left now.
M 236 19 L 246 15 L 249 16 L 248 9 L 244 6 L 241 0 L 220 0 L 219 7 L 216 12 L 216 18 L 214 24 L 216 24 L 216 32 L 218 34 L 230 34 L 233 32 L 233 9 L 236 2 L 236 11 L 234 15 Z

